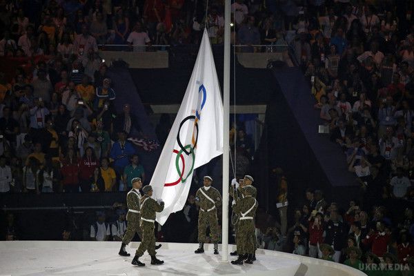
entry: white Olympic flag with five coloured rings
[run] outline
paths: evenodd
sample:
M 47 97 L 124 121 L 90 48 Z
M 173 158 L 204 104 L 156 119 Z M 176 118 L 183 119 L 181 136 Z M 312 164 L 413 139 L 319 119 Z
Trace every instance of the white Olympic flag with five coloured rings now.
M 222 153 L 223 102 L 204 30 L 186 94 L 150 181 L 155 198 L 165 202 L 164 210 L 157 213 L 159 224 L 184 207 L 193 170 Z

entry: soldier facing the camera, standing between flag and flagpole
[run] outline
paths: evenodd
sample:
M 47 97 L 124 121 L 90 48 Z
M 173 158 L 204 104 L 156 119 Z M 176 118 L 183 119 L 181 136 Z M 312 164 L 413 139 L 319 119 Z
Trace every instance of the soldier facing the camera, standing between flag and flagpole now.
M 204 177 L 204 187 L 195 193 L 195 204 L 199 206 L 198 240 L 199 248 L 194 253 L 204 253 L 204 242 L 206 242 L 206 229 L 210 226 L 212 235 L 211 242 L 214 244 L 214 254 L 219 254 L 219 221 L 217 219 L 217 208 L 221 206 L 221 195 L 219 191 L 211 186 L 213 179 Z

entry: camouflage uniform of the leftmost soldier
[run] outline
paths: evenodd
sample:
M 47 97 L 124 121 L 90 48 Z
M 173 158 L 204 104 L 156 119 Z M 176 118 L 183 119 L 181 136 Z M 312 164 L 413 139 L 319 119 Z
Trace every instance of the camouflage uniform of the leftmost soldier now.
M 122 244 L 129 244 L 134 238 L 135 233 L 139 235 L 139 239 L 142 240 L 142 230 L 139 226 L 139 200 L 141 199 L 141 193 L 132 188 L 126 195 L 126 205 L 128 206 L 128 213 L 126 214 L 126 220 L 128 226 L 126 226 L 126 232 L 122 239 Z

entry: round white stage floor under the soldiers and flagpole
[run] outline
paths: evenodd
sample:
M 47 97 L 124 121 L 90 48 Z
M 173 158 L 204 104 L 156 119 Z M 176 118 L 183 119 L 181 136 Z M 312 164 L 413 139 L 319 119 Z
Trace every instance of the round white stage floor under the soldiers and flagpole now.
M 164 260 L 165 264 L 152 266 L 146 253 L 140 259 L 146 266 L 137 267 L 130 262 L 138 245 L 131 243 L 126 248 L 131 256 L 121 257 L 118 255 L 119 242 L 0 242 L 0 276 L 364 275 L 341 264 L 270 250 L 258 250 L 254 264 L 236 266 L 222 263 L 221 255 L 213 255 L 211 245 L 206 253 L 196 255 L 197 244 L 172 243 L 165 243 L 157 250 L 158 259 Z

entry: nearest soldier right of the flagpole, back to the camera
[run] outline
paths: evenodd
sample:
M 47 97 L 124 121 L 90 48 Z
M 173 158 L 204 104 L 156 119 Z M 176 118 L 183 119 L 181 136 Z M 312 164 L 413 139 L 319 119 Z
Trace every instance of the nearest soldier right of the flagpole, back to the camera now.
M 246 183 L 246 177 L 244 178 Z M 233 210 L 239 214 L 237 223 L 237 254 L 239 257 L 232 261 L 232 264 L 243 264 L 247 255 L 246 264 L 253 264 L 253 255 L 255 253 L 255 243 L 252 236 L 255 235 L 254 216 L 257 209 L 257 200 L 253 195 L 256 193 L 255 188 L 251 185 L 244 186 L 244 198 L 239 199 Z

